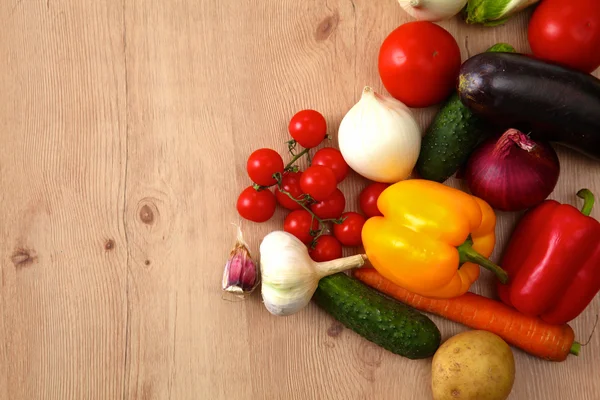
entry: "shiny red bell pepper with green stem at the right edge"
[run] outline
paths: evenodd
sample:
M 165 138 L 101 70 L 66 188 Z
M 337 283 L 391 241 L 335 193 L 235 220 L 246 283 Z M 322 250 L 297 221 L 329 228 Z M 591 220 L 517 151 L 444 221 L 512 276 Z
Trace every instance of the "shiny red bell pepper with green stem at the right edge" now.
M 600 223 L 590 217 L 594 196 L 582 189 L 581 211 L 546 200 L 517 225 L 500 265 L 508 284 L 500 299 L 551 324 L 577 317 L 600 290 Z

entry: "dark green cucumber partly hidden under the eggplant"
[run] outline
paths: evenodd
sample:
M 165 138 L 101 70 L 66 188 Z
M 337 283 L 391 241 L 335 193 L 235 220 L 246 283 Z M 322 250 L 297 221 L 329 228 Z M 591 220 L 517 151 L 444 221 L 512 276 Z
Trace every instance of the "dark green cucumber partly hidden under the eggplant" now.
M 505 43 L 490 47 L 488 52 L 515 52 Z M 434 117 L 421 142 L 417 160 L 419 175 L 431 181 L 444 182 L 469 158 L 471 152 L 487 137 L 487 124 L 465 106 L 455 92 Z

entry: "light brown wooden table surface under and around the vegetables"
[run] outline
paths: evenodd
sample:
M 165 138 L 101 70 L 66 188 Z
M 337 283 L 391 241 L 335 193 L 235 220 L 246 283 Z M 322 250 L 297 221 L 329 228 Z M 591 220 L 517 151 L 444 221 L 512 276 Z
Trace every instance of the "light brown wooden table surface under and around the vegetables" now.
M 441 25 L 464 59 L 527 51 L 528 16 Z M 246 157 L 284 152 L 304 108 L 335 145 L 362 87 L 383 90 L 379 46 L 409 21 L 395 0 L 3 0 L 0 21 L 1 399 L 430 398 L 430 360 L 314 304 L 278 318 L 220 287 Z M 434 112 L 416 111 L 423 127 Z M 600 194 L 600 164 L 558 151 L 551 197 Z M 349 208 L 365 183 L 343 182 Z M 242 224 L 255 254 L 284 215 Z M 517 218 L 499 214 L 496 260 Z M 493 295 L 482 275 L 473 290 Z M 465 329 L 432 319 L 444 338 Z M 511 399 L 600 398 L 597 332 L 563 363 L 514 354 Z

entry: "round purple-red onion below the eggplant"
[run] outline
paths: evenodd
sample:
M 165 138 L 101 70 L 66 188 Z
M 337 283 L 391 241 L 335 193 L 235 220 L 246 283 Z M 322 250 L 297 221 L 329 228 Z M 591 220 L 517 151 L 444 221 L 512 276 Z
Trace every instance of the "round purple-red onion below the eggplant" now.
M 516 129 L 489 139 L 470 156 L 465 180 L 471 193 L 501 211 L 521 211 L 544 201 L 558 182 L 556 151 Z

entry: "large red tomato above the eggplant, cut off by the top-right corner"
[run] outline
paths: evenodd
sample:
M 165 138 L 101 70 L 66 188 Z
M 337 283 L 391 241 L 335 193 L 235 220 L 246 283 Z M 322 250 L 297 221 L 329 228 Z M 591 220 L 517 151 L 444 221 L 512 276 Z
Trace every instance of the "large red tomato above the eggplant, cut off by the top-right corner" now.
M 594 71 L 600 66 L 600 2 L 542 1 L 529 21 L 528 39 L 538 58 Z

